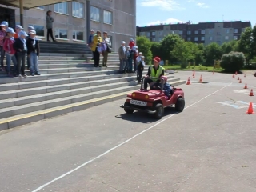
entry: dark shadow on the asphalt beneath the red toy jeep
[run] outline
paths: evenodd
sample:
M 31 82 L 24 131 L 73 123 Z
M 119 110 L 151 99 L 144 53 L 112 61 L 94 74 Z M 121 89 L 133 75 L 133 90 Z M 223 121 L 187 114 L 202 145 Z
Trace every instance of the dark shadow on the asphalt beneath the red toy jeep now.
M 166 107 L 165 108 L 165 114 L 162 118 L 170 115 L 170 114 L 178 114 L 178 112 L 174 109 L 174 107 Z M 144 112 L 134 112 L 133 114 L 120 114 L 116 115 L 116 118 L 121 118 L 126 121 L 130 122 L 142 122 L 142 123 L 152 123 L 157 122 L 158 119 L 154 118 L 154 114 L 147 114 Z

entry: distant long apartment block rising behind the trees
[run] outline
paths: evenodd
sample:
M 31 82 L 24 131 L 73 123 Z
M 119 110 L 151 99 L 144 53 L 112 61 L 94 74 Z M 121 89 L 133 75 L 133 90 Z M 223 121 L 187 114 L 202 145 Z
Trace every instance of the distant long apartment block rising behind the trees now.
M 250 22 L 199 22 L 198 24 L 178 23 L 158 26 L 137 26 L 137 36 L 146 36 L 152 42 L 161 42 L 167 34 L 178 34 L 184 40 L 205 45 L 211 42 L 222 44 L 238 40 Z

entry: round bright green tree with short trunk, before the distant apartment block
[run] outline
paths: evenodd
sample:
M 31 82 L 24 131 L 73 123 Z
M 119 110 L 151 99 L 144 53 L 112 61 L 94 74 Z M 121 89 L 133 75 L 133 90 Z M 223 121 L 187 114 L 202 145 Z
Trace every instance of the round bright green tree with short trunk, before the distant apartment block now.
M 184 69 L 187 66 L 187 62 L 194 59 L 194 52 L 196 51 L 194 50 L 195 46 L 193 42 L 181 40 L 180 42 L 176 42 L 174 50 L 172 50 L 170 54 L 181 62 L 181 68 Z

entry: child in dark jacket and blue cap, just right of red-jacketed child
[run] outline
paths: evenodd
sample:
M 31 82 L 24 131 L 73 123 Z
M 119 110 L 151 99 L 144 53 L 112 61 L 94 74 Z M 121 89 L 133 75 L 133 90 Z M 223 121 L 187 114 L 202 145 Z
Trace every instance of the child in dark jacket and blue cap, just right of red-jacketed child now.
M 26 78 L 25 74 L 25 59 L 26 59 L 26 37 L 28 35 L 24 30 L 21 30 L 18 33 L 18 38 L 14 42 L 14 50 L 16 50 L 16 57 L 17 57 L 17 71 L 18 77 Z

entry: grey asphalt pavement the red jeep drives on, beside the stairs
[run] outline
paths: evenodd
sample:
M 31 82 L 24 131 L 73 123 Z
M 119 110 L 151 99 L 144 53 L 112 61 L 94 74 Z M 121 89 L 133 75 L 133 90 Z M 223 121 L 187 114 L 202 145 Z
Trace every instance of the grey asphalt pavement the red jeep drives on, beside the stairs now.
M 254 76 L 189 76 L 186 109 L 159 121 L 121 99 L 0 132 L 0 191 L 256 191 Z

